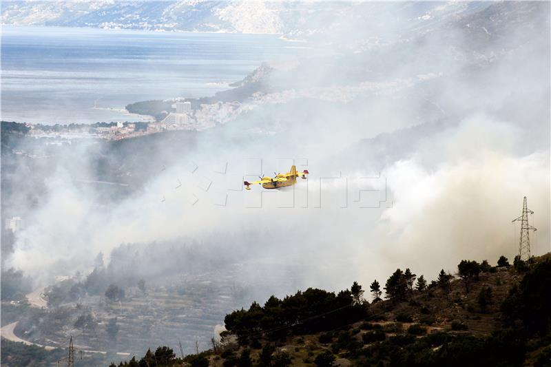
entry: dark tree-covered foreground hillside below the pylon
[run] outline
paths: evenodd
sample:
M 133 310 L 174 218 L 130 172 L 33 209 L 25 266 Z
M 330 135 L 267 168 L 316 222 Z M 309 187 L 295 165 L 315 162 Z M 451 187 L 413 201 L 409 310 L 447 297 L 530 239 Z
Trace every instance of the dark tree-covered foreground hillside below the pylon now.
M 159 347 L 111 366 L 551 366 L 550 310 L 551 254 L 461 260 L 431 282 L 397 269 L 368 290 L 272 296 L 229 313 L 211 350 Z

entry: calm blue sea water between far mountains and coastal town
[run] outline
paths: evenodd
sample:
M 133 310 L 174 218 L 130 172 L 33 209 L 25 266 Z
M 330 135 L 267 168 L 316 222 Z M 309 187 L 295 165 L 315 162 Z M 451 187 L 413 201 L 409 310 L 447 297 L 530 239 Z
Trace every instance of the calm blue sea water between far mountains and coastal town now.
M 275 35 L 4 25 L 1 119 L 140 120 L 125 105 L 228 89 L 263 61 L 300 54 Z

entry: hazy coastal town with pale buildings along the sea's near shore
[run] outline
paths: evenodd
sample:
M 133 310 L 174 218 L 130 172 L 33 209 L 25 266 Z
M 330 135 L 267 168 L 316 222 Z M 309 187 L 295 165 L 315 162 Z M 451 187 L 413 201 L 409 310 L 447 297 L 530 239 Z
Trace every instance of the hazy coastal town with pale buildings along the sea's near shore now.
M 277 65 L 277 67 L 287 67 Z M 34 138 L 47 138 L 47 144 L 71 144 L 75 139 L 123 140 L 179 130 L 203 131 L 224 125 L 241 114 L 263 104 L 282 103 L 303 96 L 326 95 L 326 90 L 300 90 L 298 92 L 268 93 L 262 89 L 262 80 L 274 70 L 273 65 L 262 63 L 242 81 L 229 84 L 230 89 L 202 98 L 176 97 L 163 101 L 130 103 L 123 108 L 107 109 L 125 114 L 132 120 L 111 120 L 96 123 L 42 124 L 25 123 L 28 134 Z M 286 93 L 287 92 L 287 93 Z M 342 93 L 342 91 L 339 91 Z M 96 105 L 92 107 L 98 109 Z M 104 107 L 105 109 L 105 107 Z M 132 117 L 130 117 L 132 116 Z M 17 152 L 15 152 L 17 154 Z

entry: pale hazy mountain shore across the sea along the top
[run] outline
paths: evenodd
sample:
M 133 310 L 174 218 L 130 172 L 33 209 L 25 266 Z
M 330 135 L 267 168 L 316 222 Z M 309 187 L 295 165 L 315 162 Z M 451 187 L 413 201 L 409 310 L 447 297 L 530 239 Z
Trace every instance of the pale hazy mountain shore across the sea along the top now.
M 390 16 L 413 30 L 488 4 L 427 3 L 301 3 L 295 1 L 3 1 L 1 21 L 13 25 L 63 25 L 121 28 L 286 34 L 301 39 L 320 37 L 350 27 L 355 19 L 374 31 Z M 373 32 L 375 34 L 375 32 Z M 371 40 L 373 41 L 373 40 Z M 368 41 L 364 40 L 364 45 Z

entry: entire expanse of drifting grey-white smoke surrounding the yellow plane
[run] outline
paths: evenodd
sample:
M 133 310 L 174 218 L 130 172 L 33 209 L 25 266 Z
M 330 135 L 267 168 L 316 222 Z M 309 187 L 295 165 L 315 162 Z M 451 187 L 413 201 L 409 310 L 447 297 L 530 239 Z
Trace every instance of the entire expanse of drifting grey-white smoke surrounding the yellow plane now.
M 333 54 L 276 68 L 227 123 L 63 148 L 39 202 L 12 205 L 25 228 L 4 260 L 37 285 L 90 273 L 100 252 L 134 257 L 133 276 L 156 279 L 240 264 L 236 282 L 262 284 L 263 302 L 384 282 L 397 267 L 430 280 L 464 258 L 511 259 L 523 196 L 532 253 L 548 252 L 549 6 L 486 4 L 501 23 L 433 6 L 438 20 L 421 29 L 391 18 L 362 28 L 357 9 L 343 12 L 351 27 L 327 33 Z M 293 164 L 310 174 L 291 189 L 242 187 Z M 147 258 L 152 249 L 163 256 Z

